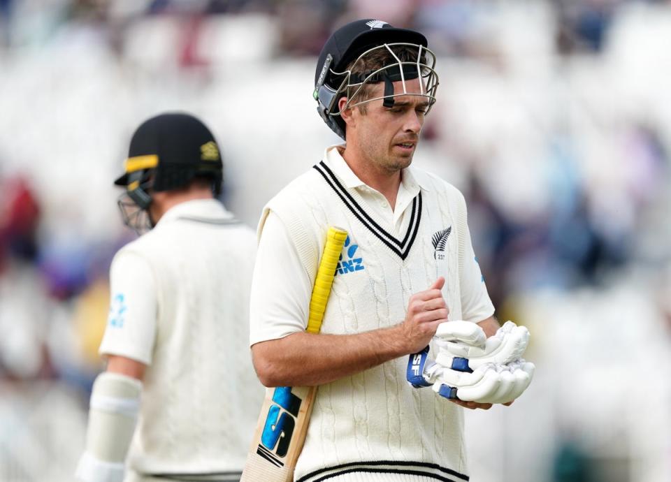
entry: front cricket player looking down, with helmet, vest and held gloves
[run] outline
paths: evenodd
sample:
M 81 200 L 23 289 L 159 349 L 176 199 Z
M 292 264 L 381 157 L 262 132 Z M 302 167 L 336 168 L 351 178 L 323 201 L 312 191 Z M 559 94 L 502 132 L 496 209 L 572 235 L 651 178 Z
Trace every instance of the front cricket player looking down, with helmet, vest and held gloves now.
M 410 166 L 435 102 L 434 66 L 417 31 L 372 19 L 335 31 L 314 97 L 345 143 L 261 216 L 254 367 L 265 386 L 319 386 L 296 481 L 468 481 L 462 407 L 510 404 L 531 381 L 520 358 L 528 332 L 493 316 L 463 196 Z M 331 225 L 349 238 L 314 335 L 308 303 Z

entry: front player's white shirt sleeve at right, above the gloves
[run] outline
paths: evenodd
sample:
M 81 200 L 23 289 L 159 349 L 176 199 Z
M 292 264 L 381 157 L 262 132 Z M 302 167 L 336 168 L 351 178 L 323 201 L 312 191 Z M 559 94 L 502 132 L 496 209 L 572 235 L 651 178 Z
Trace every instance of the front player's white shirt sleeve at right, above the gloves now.
M 473 252 L 470 232 L 466 232 L 466 249 L 464 249 L 463 270 L 459 273 L 461 285 L 461 317 L 466 321 L 478 323 L 494 314 L 494 305 L 487 293 L 480 265 Z

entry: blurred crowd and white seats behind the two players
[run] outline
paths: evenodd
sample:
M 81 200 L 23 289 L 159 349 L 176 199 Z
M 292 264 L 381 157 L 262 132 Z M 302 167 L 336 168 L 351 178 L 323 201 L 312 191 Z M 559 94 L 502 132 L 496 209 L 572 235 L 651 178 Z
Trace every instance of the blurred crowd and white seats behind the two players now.
M 338 143 L 316 56 L 362 17 L 438 54 L 415 162 L 532 333 L 527 393 L 467 414 L 472 480 L 671 481 L 671 2 L 0 0 L 0 482 L 72 480 L 135 127 L 201 117 L 255 226 Z

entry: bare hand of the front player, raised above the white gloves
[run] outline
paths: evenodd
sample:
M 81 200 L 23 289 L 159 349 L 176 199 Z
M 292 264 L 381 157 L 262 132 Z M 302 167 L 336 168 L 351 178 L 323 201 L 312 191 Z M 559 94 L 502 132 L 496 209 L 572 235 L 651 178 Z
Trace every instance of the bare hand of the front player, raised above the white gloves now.
M 407 353 L 424 349 L 440 323 L 447 321 L 449 309 L 442 297 L 444 285 L 445 278 L 441 276 L 425 291 L 410 296 L 405 320 L 401 323 L 401 336 L 407 344 Z

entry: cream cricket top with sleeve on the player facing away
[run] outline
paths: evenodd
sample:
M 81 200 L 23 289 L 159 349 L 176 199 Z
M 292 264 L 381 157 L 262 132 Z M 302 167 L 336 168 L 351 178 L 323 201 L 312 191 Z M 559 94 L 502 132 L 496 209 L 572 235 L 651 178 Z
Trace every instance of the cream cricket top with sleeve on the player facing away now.
M 115 257 L 100 351 L 148 365 L 127 480 L 242 470 L 264 397 L 247 346 L 255 241 L 217 200 L 192 200 Z M 129 293 L 127 272 L 154 296 Z

